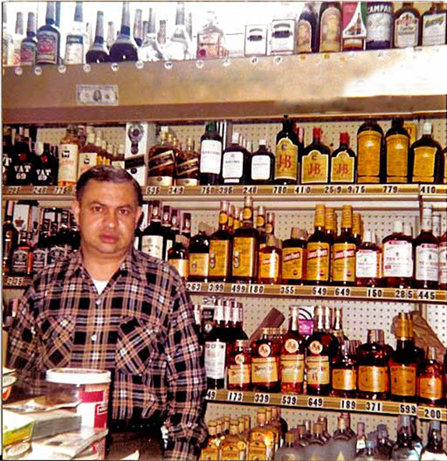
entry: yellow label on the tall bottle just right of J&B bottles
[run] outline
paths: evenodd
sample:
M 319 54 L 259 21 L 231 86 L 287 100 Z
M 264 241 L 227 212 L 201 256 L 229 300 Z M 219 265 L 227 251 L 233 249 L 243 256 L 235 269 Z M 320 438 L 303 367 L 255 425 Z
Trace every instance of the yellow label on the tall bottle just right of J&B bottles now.
M 358 181 L 379 183 L 382 135 L 378 131 L 362 131 L 357 135 Z

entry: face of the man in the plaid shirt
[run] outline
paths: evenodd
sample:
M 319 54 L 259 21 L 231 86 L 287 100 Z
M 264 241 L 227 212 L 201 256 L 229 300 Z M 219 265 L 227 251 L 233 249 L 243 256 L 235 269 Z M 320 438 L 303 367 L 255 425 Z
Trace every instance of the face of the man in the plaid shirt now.
M 87 256 L 109 259 L 126 255 L 141 216 L 132 184 L 90 180 L 81 202 L 73 202 L 73 212 Z

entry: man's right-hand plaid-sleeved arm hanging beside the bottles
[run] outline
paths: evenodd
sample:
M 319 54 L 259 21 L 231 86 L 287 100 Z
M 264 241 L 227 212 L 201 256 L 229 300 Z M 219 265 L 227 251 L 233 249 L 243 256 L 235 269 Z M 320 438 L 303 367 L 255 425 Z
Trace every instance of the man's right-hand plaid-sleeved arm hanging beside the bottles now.
M 166 459 L 196 459 L 206 438 L 206 374 L 194 325 L 193 307 L 183 282 L 173 286 L 167 340 Z

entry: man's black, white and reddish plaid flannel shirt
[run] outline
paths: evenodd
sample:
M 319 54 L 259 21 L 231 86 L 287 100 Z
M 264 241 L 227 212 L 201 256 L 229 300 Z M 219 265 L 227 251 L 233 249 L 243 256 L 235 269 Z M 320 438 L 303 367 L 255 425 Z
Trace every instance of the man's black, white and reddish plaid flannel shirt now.
M 101 294 L 81 252 L 37 274 L 11 329 L 9 365 L 34 394 L 53 367 L 112 372 L 112 419 L 166 418 L 165 457 L 194 459 L 206 437 L 206 377 L 178 273 L 132 249 Z

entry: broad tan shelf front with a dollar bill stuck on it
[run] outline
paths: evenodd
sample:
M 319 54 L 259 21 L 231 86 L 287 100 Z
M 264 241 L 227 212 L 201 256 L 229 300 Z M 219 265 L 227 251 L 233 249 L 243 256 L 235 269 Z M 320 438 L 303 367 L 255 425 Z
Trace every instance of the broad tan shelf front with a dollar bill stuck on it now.
M 441 45 L 4 68 L 3 121 L 247 120 L 280 118 L 285 113 L 314 119 L 397 113 L 444 117 L 447 82 L 439 63 L 446 60 L 447 45 Z M 95 89 L 107 93 L 101 104 L 85 97 Z

